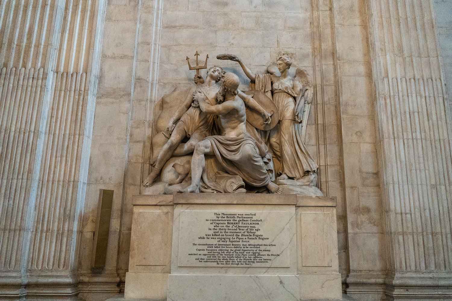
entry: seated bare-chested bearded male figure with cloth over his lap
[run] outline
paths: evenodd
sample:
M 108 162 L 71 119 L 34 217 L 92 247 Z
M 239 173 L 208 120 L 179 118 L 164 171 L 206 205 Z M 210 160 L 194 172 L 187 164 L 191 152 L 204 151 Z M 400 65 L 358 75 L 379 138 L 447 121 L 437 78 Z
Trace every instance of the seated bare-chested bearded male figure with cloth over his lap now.
M 211 102 L 201 91 L 194 94 L 199 107 L 207 114 L 217 115 L 221 135 L 208 136 L 199 142 L 192 157 L 192 182 L 180 192 L 199 192 L 202 171 L 206 167 L 205 155 L 215 156 L 227 173 L 240 176 L 254 187 L 267 187 L 270 193 L 282 193 L 271 181 L 264 157 L 268 153 L 265 144 L 259 144 L 246 130 L 245 103 L 237 96 L 239 77 L 226 73 L 217 93 L 217 104 Z

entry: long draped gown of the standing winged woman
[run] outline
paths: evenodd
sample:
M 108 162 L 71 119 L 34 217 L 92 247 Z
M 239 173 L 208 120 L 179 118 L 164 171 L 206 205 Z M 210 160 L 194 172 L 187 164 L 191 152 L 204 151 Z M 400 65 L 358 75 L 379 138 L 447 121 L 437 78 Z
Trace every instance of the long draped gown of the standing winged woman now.
M 279 123 L 270 132 L 270 147 L 281 164 L 278 174 L 298 180 L 318 166 L 304 144 L 301 123 L 294 119 L 297 92 L 278 76 L 273 77 L 272 92 Z

